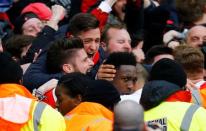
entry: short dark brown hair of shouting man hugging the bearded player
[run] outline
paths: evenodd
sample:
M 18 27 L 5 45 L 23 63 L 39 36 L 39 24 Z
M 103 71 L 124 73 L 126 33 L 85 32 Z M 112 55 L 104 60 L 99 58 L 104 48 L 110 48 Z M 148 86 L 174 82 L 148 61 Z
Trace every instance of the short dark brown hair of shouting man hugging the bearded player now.
M 69 33 L 78 36 L 81 32 L 99 28 L 99 21 L 89 13 L 79 13 L 72 17 L 69 23 Z

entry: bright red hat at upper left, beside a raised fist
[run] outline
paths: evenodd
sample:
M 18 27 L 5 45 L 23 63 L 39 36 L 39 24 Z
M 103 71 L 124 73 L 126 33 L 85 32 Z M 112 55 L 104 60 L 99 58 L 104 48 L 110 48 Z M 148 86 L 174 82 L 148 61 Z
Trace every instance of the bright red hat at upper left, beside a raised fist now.
M 49 20 L 52 16 L 52 11 L 44 3 L 36 2 L 26 6 L 21 14 L 32 12 L 39 17 L 40 20 Z

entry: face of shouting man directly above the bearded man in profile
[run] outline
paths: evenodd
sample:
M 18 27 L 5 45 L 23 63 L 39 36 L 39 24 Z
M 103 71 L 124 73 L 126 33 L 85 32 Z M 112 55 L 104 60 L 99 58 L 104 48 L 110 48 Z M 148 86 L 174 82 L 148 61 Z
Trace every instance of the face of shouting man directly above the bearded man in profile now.
M 83 40 L 84 49 L 89 57 L 93 57 L 99 49 L 100 30 L 99 28 L 81 32 L 79 37 Z

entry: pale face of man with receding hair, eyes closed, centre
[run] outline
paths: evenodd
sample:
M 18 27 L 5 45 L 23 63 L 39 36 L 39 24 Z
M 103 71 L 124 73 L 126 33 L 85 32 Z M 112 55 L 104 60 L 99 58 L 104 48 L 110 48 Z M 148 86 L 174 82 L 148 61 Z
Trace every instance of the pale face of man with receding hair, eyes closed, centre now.
M 107 53 L 113 52 L 131 52 L 131 38 L 125 29 L 111 28 L 107 32 L 108 43 Z

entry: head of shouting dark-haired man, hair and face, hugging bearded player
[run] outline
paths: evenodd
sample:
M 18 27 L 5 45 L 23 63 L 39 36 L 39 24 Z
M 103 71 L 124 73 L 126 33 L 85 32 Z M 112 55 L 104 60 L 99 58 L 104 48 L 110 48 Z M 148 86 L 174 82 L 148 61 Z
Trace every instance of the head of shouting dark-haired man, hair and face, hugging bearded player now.
M 84 49 L 89 57 L 98 52 L 100 45 L 99 21 L 91 14 L 79 13 L 75 15 L 69 25 L 71 36 L 80 37 L 83 40 Z

